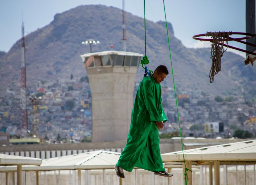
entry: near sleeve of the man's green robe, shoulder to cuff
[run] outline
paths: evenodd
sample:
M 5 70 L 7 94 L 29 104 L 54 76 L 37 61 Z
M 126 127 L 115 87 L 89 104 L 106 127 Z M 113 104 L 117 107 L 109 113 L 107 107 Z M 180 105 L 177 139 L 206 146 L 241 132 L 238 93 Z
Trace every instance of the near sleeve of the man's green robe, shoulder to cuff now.
M 154 93 L 155 93 L 154 92 L 154 84 L 149 80 L 144 81 L 142 93 L 143 93 L 145 106 L 150 115 L 150 121 L 151 122 L 161 122 L 162 118 L 156 109 L 156 103 L 155 103 L 155 98 L 154 98 Z

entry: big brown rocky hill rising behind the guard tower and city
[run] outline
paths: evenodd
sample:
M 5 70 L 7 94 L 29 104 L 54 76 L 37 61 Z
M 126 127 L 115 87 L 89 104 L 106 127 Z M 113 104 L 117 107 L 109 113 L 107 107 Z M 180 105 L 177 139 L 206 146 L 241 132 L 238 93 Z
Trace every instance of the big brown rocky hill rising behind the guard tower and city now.
M 126 14 L 127 51 L 144 54 L 144 19 Z M 171 71 L 165 22 L 147 20 L 147 56 L 149 68 L 165 64 Z M 244 58 L 226 51 L 222 68 L 209 83 L 211 68 L 210 48 L 186 48 L 175 37 L 172 24 L 168 23 L 172 62 L 176 87 L 179 91 L 199 90 L 213 94 L 232 94 L 255 89 L 256 68 L 244 65 Z M 189 29 L 188 29 L 189 30 Z M 83 5 L 56 14 L 53 21 L 26 36 L 27 81 L 82 77 L 86 74 L 80 55 L 90 51 L 81 42 L 87 39 L 100 41 L 93 51 L 122 50 L 122 10 L 104 5 Z M 191 38 L 192 39 L 192 38 Z M 20 40 L 10 51 L 0 54 L 1 89 L 19 84 Z M 137 81 L 143 76 L 139 67 Z M 171 73 L 164 85 L 172 87 Z

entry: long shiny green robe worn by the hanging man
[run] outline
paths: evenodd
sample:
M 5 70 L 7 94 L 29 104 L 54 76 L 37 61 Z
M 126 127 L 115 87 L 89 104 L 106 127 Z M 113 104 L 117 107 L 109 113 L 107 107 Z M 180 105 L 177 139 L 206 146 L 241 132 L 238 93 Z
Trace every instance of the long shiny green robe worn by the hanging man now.
M 156 126 L 156 121 L 167 121 L 161 93 L 161 85 L 154 78 L 144 77 L 140 82 L 132 109 L 127 143 L 116 166 L 128 172 L 134 166 L 153 172 L 165 170 Z

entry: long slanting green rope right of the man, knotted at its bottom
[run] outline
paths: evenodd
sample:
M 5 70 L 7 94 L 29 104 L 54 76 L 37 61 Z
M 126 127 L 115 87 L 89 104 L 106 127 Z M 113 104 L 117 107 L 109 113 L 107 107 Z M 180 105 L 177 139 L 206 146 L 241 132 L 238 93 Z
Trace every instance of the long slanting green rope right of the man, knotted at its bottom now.
M 164 0 L 163 0 L 163 2 L 164 2 Z M 168 45 L 169 45 L 170 61 L 171 61 L 171 66 L 172 66 L 172 55 L 171 55 L 171 47 L 170 47 L 168 26 L 167 26 L 166 13 L 165 13 L 165 5 L 164 5 L 164 16 L 165 16 L 165 24 L 166 24 L 166 31 L 167 31 L 167 38 L 168 38 Z M 173 79 L 173 87 L 174 87 L 176 108 L 177 108 L 177 114 L 178 114 L 178 122 L 179 122 L 179 127 L 180 127 L 180 118 L 179 118 L 179 111 L 178 111 L 177 94 L 176 94 L 175 83 L 174 83 L 173 67 L 172 67 L 172 79 Z M 187 168 L 186 162 L 185 162 L 184 151 L 183 151 L 183 142 L 182 142 L 182 137 L 181 137 L 181 129 L 180 129 L 180 141 L 181 141 L 183 162 L 184 162 L 184 164 L 185 164 L 185 173 L 184 173 L 184 175 L 185 175 L 185 185 L 187 185 L 187 183 L 188 183 L 188 174 L 187 174 L 187 171 L 191 171 L 191 170 Z M 191 171 L 191 173 L 192 173 L 192 171 Z

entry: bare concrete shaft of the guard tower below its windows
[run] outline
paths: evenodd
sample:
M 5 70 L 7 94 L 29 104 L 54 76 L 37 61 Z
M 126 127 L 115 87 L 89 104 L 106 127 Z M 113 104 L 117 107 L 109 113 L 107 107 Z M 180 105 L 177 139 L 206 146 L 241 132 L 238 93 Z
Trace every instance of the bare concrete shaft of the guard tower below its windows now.
M 92 142 L 126 140 L 137 67 L 87 68 L 92 92 Z

